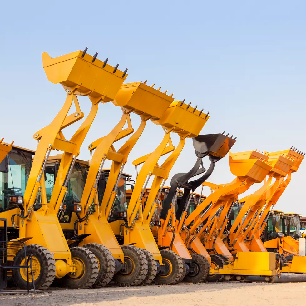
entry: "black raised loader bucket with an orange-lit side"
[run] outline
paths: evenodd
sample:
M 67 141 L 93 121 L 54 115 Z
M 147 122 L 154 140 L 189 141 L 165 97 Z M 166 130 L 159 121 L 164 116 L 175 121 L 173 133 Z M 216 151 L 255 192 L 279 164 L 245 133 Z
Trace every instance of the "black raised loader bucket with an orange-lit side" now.
M 217 160 L 223 158 L 236 142 L 235 139 L 222 134 L 199 135 L 192 139 L 195 148 L 195 155 L 203 157 L 206 155 L 214 156 Z

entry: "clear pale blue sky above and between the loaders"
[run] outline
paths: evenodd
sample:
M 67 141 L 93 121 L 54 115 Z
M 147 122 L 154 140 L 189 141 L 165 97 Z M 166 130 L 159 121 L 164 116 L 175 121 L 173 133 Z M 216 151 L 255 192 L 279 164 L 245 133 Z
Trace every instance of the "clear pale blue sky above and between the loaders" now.
M 290 146 L 306 151 L 304 1 L 5 1 L 1 11 L 0 136 L 7 142 L 35 149 L 32 135 L 64 102 L 62 86 L 45 76 L 41 53 L 57 57 L 88 47 L 89 54 L 129 68 L 127 82 L 148 80 L 210 111 L 202 133 L 234 134 L 233 152 Z M 80 99 L 85 114 L 86 99 Z M 111 103 L 100 105 L 81 159 L 89 159 L 87 145 L 120 116 Z M 136 127 L 137 116 L 132 120 Z M 162 137 L 161 128 L 148 122 L 125 172 L 134 175 L 131 162 Z M 172 138 L 177 144 L 178 136 Z M 190 170 L 194 161 L 189 139 L 170 177 Z M 306 161 L 276 209 L 306 215 L 305 170 Z M 225 157 L 210 181 L 233 178 Z

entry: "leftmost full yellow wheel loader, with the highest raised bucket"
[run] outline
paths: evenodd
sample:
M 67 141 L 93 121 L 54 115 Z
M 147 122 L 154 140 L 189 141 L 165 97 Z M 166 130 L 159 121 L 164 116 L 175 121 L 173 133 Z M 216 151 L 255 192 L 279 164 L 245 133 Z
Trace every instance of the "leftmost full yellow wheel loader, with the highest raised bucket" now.
M 46 52 L 42 54 L 48 80 L 62 84 L 67 93 L 66 101 L 52 122 L 34 133 L 38 145 L 24 196 L 10 195 L 9 209 L 0 212 L 0 217 L 6 218 L 8 226 L 13 228 L 9 233 L 10 241 L 25 242 L 27 254 L 33 256 L 34 275 L 29 281 L 30 286 L 35 282 L 36 289 L 47 289 L 55 277 L 63 279 L 70 288 L 89 288 L 99 273 L 97 259 L 89 249 L 69 249 L 74 241 L 65 239 L 57 219 L 72 166 L 96 116 L 98 104 L 112 101 L 126 78 L 126 72 L 118 70 L 118 66 L 111 67 L 107 60 L 102 62 L 96 58 L 97 54 L 92 57 L 86 51 L 87 48 L 56 58 Z M 67 140 L 63 129 L 84 117 L 77 96 L 88 96 L 92 106 L 81 126 Z M 76 111 L 68 115 L 72 104 Z M 52 150 L 63 154 L 51 198 L 47 201 L 44 173 Z M 16 265 L 23 264 L 22 252 L 18 251 L 9 260 Z M 19 288 L 27 287 L 25 269 L 14 269 L 12 276 Z

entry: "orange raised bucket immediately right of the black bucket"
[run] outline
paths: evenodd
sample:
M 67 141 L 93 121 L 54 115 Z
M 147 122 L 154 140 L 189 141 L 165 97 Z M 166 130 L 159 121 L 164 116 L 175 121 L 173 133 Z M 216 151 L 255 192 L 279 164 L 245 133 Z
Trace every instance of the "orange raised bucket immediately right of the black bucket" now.
M 272 170 L 272 166 L 267 163 L 268 156 L 259 152 L 229 152 L 229 155 L 230 172 L 238 177 L 249 177 L 255 183 L 261 183 Z

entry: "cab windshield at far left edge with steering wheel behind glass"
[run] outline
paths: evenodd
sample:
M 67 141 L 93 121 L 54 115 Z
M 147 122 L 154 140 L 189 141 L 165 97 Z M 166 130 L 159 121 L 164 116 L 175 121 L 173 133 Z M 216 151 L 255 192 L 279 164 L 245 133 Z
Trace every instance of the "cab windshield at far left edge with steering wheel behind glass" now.
M 15 208 L 8 204 L 9 195 L 24 195 L 32 166 L 32 153 L 12 149 L 8 153 L 8 173 L 0 172 L 0 210 Z

